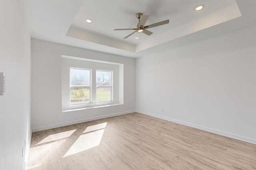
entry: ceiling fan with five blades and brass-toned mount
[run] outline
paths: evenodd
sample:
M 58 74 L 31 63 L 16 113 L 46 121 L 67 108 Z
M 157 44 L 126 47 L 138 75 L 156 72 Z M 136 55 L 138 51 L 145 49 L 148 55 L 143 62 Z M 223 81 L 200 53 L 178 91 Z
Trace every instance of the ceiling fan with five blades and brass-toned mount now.
M 114 29 L 114 31 L 118 31 L 118 30 L 136 30 L 137 32 L 143 32 L 146 35 L 151 35 L 152 32 L 148 31 L 148 28 L 152 28 L 152 27 L 156 27 L 156 26 L 160 26 L 160 25 L 164 25 L 169 23 L 169 20 L 165 20 L 165 21 L 161 21 L 161 22 L 157 22 L 157 23 L 153 23 L 147 26 L 144 26 L 146 21 L 148 20 L 148 16 L 144 16 L 141 13 L 136 14 L 136 17 L 138 18 L 139 22 L 137 24 L 137 28 L 127 28 L 127 29 Z M 133 33 L 127 35 L 125 38 L 130 37 L 132 34 L 134 34 L 136 31 L 134 31 Z

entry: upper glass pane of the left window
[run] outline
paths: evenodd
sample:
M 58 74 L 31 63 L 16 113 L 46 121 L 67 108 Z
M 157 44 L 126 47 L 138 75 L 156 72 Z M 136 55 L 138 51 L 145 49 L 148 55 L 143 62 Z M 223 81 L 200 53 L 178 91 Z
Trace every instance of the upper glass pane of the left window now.
M 90 70 L 70 69 L 70 86 L 90 86 Z

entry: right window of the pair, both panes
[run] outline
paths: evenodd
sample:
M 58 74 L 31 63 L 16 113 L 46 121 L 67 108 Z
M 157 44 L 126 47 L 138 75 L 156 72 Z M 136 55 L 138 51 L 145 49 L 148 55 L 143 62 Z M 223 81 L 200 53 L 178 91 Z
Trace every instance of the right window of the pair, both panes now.
M 111 71 L 96 71 L 96 102 L 112 101 L 111 75 Z

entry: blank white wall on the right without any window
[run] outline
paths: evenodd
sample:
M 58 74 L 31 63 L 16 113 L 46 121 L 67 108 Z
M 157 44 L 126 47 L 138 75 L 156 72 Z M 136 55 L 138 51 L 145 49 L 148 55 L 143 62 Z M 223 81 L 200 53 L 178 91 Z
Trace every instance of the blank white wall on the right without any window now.
M 248 27 L 136 59 L 136 111 L 256 144 L 255 37 Z

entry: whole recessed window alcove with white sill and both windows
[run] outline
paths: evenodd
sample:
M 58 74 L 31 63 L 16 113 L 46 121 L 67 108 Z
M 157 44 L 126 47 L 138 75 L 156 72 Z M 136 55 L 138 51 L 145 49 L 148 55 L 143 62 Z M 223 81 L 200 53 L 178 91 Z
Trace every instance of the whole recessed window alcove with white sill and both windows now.
M 62 55 L 62 111 L 123 104 L 123 64 Z

